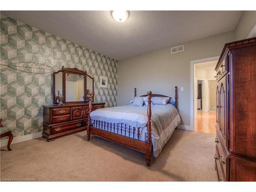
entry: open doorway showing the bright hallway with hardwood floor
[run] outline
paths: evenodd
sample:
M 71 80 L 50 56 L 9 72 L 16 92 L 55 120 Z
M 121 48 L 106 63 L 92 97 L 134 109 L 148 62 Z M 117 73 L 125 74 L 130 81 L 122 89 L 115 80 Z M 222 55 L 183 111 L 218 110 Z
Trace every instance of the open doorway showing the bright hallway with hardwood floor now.
M 216 134 L 217 60 L 194 65 L 194 131 Z

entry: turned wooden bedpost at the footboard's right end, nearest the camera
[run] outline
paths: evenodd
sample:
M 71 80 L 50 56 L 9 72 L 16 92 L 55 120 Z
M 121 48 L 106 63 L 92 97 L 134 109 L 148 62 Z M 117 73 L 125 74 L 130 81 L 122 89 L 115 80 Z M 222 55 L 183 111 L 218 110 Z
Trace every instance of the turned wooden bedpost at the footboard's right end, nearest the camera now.
M 147 166 L 150 166 L 151 153 L 152 153 L 152 141 L 151 141 L 151 91 L 147 92 L 147 140 L 146 140 L 146 160 Z

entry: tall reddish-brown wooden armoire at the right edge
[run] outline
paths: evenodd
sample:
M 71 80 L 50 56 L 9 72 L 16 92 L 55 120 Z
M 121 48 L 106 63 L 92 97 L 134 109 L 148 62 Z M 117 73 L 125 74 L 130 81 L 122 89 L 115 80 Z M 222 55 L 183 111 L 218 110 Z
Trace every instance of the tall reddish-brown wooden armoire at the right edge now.
M 215 70 L 219 181 L 256 181 L 256 37 L 225 44 Z

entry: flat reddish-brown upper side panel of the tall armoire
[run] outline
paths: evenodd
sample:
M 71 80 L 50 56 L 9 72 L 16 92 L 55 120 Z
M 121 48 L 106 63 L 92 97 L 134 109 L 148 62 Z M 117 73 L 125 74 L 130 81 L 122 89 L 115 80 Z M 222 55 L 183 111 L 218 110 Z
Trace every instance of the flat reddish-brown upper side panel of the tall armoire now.
M 233 154 L 256 158 L 256 46 L 241 48 L 235 54 Z

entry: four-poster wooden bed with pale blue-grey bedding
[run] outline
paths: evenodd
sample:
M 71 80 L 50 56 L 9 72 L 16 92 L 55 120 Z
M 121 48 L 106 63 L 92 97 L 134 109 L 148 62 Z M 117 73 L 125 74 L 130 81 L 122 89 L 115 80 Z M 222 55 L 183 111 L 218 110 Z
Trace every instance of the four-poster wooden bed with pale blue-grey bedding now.
M 134 96 L 136 97 L 136 89 Z M 98 109 L 92 112 L 92 94 L 89 98 L 89 120 L 87 140 L 91 135 L 140 151 L 146 156 L 146 165 L 151 165 L 151 156 L 157 157 L 163 146 L 180 124 L 177 110 L 177 87 L 173 104 L 155 104 L 152 97 L 167 97 L 148 91 L 140 97 L 145 99 L 143 106 L 124 105 Z M 168 97 L 171 99 L 170 97 Z M 146 106 L 147 104 L 147 106 Z

